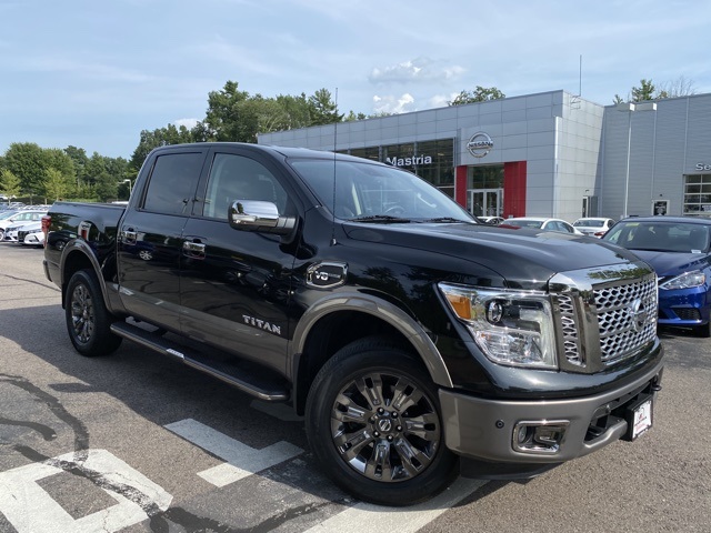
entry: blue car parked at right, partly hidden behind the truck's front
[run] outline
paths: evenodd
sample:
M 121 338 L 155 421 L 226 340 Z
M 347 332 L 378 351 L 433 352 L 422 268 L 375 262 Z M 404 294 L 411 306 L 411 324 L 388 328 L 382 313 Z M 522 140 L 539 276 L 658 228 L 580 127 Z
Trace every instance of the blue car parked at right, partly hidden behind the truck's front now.
M 649 263 L 659 278 L 658 324 L 711 336 L 711 219 L 634 217 L 602 238 Z

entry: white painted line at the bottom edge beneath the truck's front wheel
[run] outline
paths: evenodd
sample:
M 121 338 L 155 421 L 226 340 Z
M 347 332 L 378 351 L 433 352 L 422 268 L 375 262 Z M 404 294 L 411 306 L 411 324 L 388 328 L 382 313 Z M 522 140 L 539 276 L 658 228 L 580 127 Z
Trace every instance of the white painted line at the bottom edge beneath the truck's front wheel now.
M 460 477 L 447 491 L 432 500 L 409 507 L 385 507 L 370 503 L 358 503 L 314 525 L 304 533 L 331 531 L 338 531 L 339 533 L 379 531 L 414 533 L 485 483 L 487 481 L 482 480 Z

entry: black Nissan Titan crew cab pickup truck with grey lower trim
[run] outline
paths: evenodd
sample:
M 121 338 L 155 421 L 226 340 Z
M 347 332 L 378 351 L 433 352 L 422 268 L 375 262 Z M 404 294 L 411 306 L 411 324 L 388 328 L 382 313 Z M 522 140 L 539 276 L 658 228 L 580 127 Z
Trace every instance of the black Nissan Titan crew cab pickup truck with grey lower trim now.
M 530 477 L 652 425 L 651 268 L 478 223 L 393 167 L 169 145 L 126 208 L 57 202 L 44 228 L 79 353 L 128 339 L 291 404 L 318 463 L 365 501 Z

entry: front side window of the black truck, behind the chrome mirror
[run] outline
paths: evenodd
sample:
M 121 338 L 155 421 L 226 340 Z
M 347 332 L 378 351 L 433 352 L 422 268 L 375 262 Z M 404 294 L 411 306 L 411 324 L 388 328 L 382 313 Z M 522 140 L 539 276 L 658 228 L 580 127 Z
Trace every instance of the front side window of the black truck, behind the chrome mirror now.
M 208 192 L 203 215 L 227 219 L 234 200 L 261 200 L 277 204 L 284 213 L 287 193 L 261 163 L 253 159 L 229 153 L 218 153 L 208 178 Z

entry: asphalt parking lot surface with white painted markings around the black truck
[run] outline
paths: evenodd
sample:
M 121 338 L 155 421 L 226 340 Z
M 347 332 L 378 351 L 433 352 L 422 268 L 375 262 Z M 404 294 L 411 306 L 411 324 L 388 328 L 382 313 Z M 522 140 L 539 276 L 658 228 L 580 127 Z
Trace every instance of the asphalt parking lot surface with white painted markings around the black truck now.
M 654 425 L 413 507 L 336 489 L 280 405 L 124 342 L 78 355 L 42 250 L 0 243 L 0 532 L 708 532 L 711 340 L 660 331 Z

